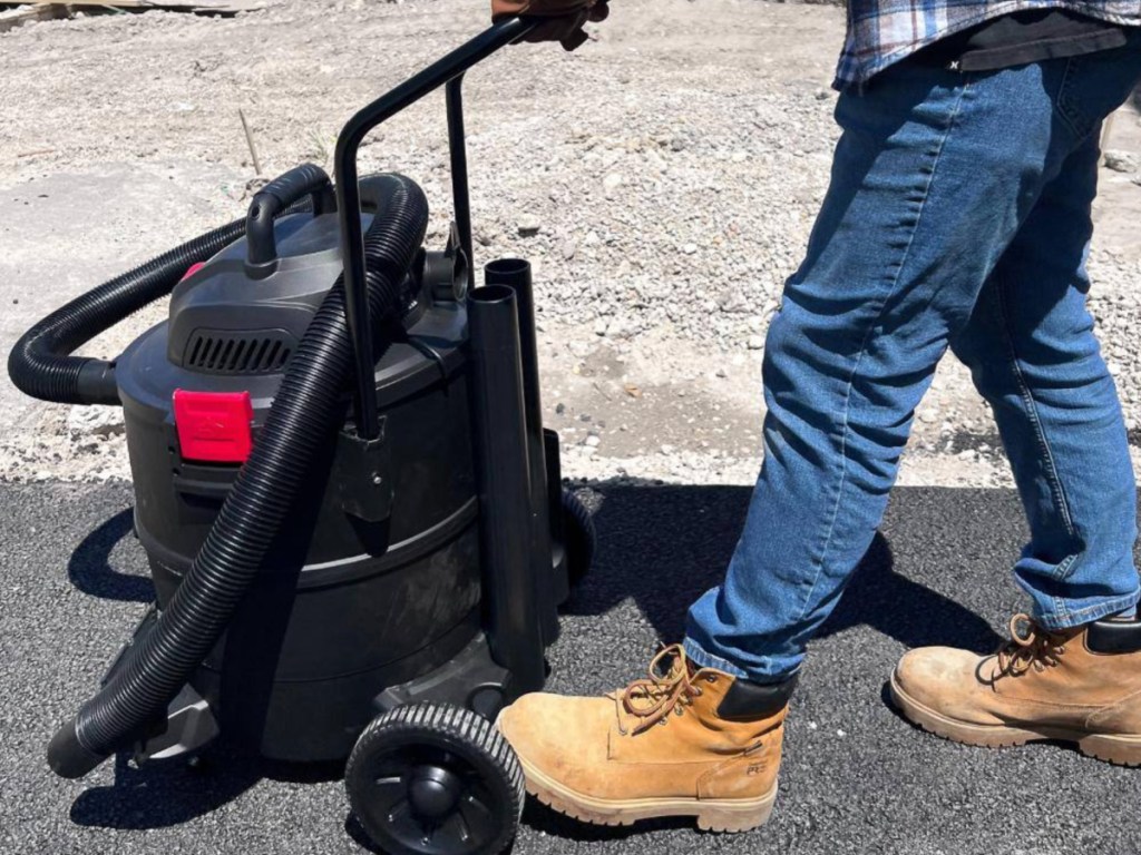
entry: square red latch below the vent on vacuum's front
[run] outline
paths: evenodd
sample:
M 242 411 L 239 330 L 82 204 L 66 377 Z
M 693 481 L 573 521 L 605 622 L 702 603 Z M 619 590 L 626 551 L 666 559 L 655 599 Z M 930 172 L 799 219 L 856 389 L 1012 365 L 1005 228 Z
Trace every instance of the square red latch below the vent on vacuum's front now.
M 253 449 L 252 423 L 249 392 L 175 391 L 175 427 L 184 459 L 245 463 Z

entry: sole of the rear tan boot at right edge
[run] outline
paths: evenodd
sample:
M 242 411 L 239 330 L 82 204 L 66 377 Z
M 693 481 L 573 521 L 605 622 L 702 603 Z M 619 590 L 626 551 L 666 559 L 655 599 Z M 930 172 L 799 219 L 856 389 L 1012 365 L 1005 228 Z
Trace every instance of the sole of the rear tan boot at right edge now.
M 952 742 L 982 748 L 1008 748 L 1027 742 L 1049 740 L 1071 742 L 1077 749 L 1098 760 L 1118 766 L 1141 766 L 1141 735 L 1111 736 L 1067 727 L 1010 727 L 1008 725 L 968 724 L 931 709 L 905 692 L 891 675 L 891 701 L 907 720 L 924 731 Z

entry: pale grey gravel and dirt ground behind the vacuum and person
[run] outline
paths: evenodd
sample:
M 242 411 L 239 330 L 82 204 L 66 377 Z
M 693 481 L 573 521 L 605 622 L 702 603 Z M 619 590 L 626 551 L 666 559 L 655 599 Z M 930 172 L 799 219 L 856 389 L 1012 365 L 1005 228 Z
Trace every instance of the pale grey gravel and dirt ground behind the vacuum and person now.
M 97 15 L 0 35 L 0 349 L 65 299 L 241 212 L 254 174 L 240 107 L 267 172 L 327 165 L 340 123 L 477 32 L 484 6 L 274 0 L 230 19 Z M 575 55 L 515 48 L 471 75 L 479 259 L 536 264 L 545 405 L 569 474 L 754 477 L 760 348 L 826 187 L 842 30 L 828 7 L 623 0 Z M 1110 146 L 1093 309 L 1139 429 L 1131 109 Z M 439 243 L 439 100 L 375 135 L 363 163 L 423 184 Z M 162 314 L 88 352 L 114 356 Z M 0 382 L 0 479 L 124 478 L 121 433 L 113 410 L 31 404 Z M 949 360 L 903 481 L 1009 481 L 986 407 Z

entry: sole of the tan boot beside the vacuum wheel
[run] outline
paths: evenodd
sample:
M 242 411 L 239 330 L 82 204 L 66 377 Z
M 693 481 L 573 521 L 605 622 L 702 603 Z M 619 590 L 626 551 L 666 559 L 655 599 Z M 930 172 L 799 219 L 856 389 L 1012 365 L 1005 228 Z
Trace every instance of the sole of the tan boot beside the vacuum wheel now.
M 693 816 L 702 831 L 738 833 L 763 825 L 777 799 L 777 784 L 756 799 L 597 799 L 564 787 L 521 757 L 527 792 L 564 816 L 592 825 L 632 825 L 663 816 Z

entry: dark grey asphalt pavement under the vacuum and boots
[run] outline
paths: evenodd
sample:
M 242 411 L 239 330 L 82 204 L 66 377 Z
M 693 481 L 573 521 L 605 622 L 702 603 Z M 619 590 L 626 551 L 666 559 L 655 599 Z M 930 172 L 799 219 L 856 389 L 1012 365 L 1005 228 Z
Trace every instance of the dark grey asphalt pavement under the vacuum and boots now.
M 556 691 L 639 676 L 658 638 L 725 567 L 748 491 L 598 488 L 601 551 L 552 649 Z M 65 782 L 43 762 L 54 727 L 96 686 L 151 598 L 122 484 L 0 484 L 0 853 L 361 853 L 337 769 L 208 755 Z M 812 646 L 764 829 L 686 822 L 591 829 L 531 803 L 517 855 L 1141 852 L 1141 769 L 1062 746 L 966 748 L 885 702 L 908 648 L 980 651 L 1023 606 L 1008 568 L 1023 536 L 1006 491 L 899 489 L 882 536 Z M 572 747 L 573 750 L 573 747 Z

